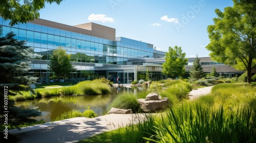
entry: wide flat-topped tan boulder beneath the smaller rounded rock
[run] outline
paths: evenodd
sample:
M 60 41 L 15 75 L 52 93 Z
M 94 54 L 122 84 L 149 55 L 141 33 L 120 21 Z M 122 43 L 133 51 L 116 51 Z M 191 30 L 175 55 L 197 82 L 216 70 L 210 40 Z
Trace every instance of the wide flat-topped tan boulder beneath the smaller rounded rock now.
M 169 106 L 169 99 L 163 98 L 163 100 L 149 100 L 138 99 L 140 108 L 144 112 L 155 112 L 157 109 L 164 109 Z

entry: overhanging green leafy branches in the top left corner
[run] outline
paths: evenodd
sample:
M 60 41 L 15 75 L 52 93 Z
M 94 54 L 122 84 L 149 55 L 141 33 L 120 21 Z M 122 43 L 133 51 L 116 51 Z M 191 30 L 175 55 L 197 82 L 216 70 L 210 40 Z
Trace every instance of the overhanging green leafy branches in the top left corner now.
M 18 22 L 26 23 L 40 16 L 39 10 L 45 7 L 46 3 L 60 4 L 63 0 L 1 0 L 0 14 L 7 20 L 10 19 L 10 26 Z

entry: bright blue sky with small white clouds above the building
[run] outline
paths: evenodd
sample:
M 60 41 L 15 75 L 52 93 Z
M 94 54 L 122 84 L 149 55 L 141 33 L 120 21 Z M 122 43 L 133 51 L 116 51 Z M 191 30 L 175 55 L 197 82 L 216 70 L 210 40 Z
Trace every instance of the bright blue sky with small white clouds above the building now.
M 181 46 L 186 57 L 207 57 L 207 26 L 215 9 L 233 6 L 232 0 L 66 0 L 47 4 L 40 18 L 74 26 L 95 22 L 122 36 L 154 44 L 156 49 Z

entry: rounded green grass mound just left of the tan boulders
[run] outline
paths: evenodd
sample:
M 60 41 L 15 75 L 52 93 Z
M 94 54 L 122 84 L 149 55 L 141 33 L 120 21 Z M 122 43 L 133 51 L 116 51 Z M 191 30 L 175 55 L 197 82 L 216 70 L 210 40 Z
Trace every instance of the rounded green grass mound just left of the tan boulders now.
M 132 92 L 124 92 L 115 97 L 108 110 L 112 107 L 119 109 L 132 109 L 133 113 L 139 111 L 140 105 Z

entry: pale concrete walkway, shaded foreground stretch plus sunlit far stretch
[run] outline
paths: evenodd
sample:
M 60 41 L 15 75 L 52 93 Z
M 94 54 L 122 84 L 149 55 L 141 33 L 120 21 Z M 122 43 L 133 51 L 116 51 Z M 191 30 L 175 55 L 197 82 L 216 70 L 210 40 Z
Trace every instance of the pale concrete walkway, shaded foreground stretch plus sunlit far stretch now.
M 199 88 L 189 92 L 190 99 L 210 93 L 212 86 Z M 49 143 L 49 142 L 77 142 L 81 139 L 100 134 L 106 131 L 137 124 L 144 120 L 145 114 L 108 114 L 95 118 L 75 117 L 67 120 L 49 122 L 12 129 L 9 133 L 20 138 L 24 143 Z

